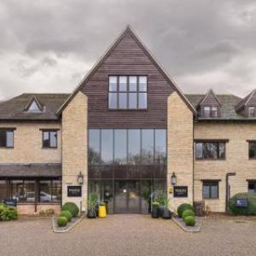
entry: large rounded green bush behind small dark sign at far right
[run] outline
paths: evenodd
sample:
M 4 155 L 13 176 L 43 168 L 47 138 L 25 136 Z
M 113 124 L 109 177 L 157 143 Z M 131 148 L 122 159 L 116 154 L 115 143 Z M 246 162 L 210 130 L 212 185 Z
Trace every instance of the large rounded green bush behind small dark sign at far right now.
M 236 199 L 247 199 L 247 208 L 236 207 Z M 232 196 L 228 210 L 234 215 L 256 215 L 256 193 L 239 193 Z

